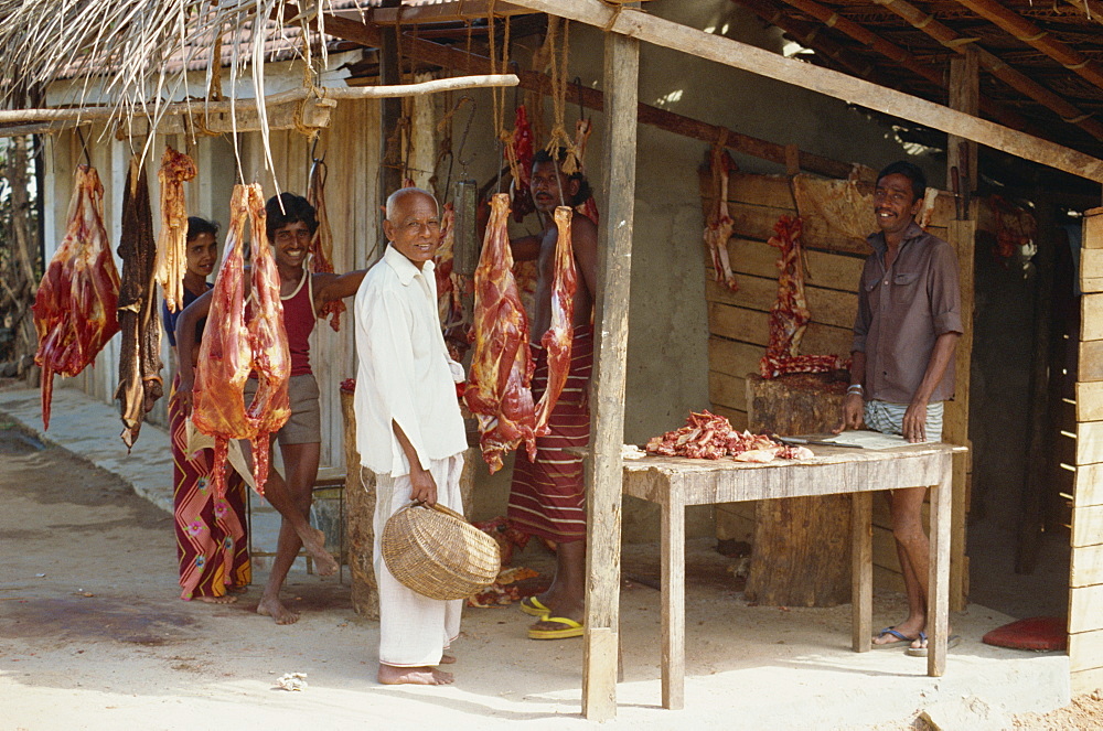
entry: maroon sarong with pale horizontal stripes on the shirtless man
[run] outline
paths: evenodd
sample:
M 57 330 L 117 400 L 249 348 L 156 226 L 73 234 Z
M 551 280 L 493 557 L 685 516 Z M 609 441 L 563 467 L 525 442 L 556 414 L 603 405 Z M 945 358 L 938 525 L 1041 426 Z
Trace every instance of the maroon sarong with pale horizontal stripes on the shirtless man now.
M 532 344 L 536 373 L 533 399 L 547 388 L 547 353 Z M 510 520 L 526 534 L 558 544 L 586 538 L 586 484 L 582 458 L 566 452 L 590 443 L 590 370 L 593 367 L 593 327 L 576 326 L 570 348 L 570 373 L 552 410 L 547 437 L 536 438 L 536 461 L 517 450 L 510 490 Z

